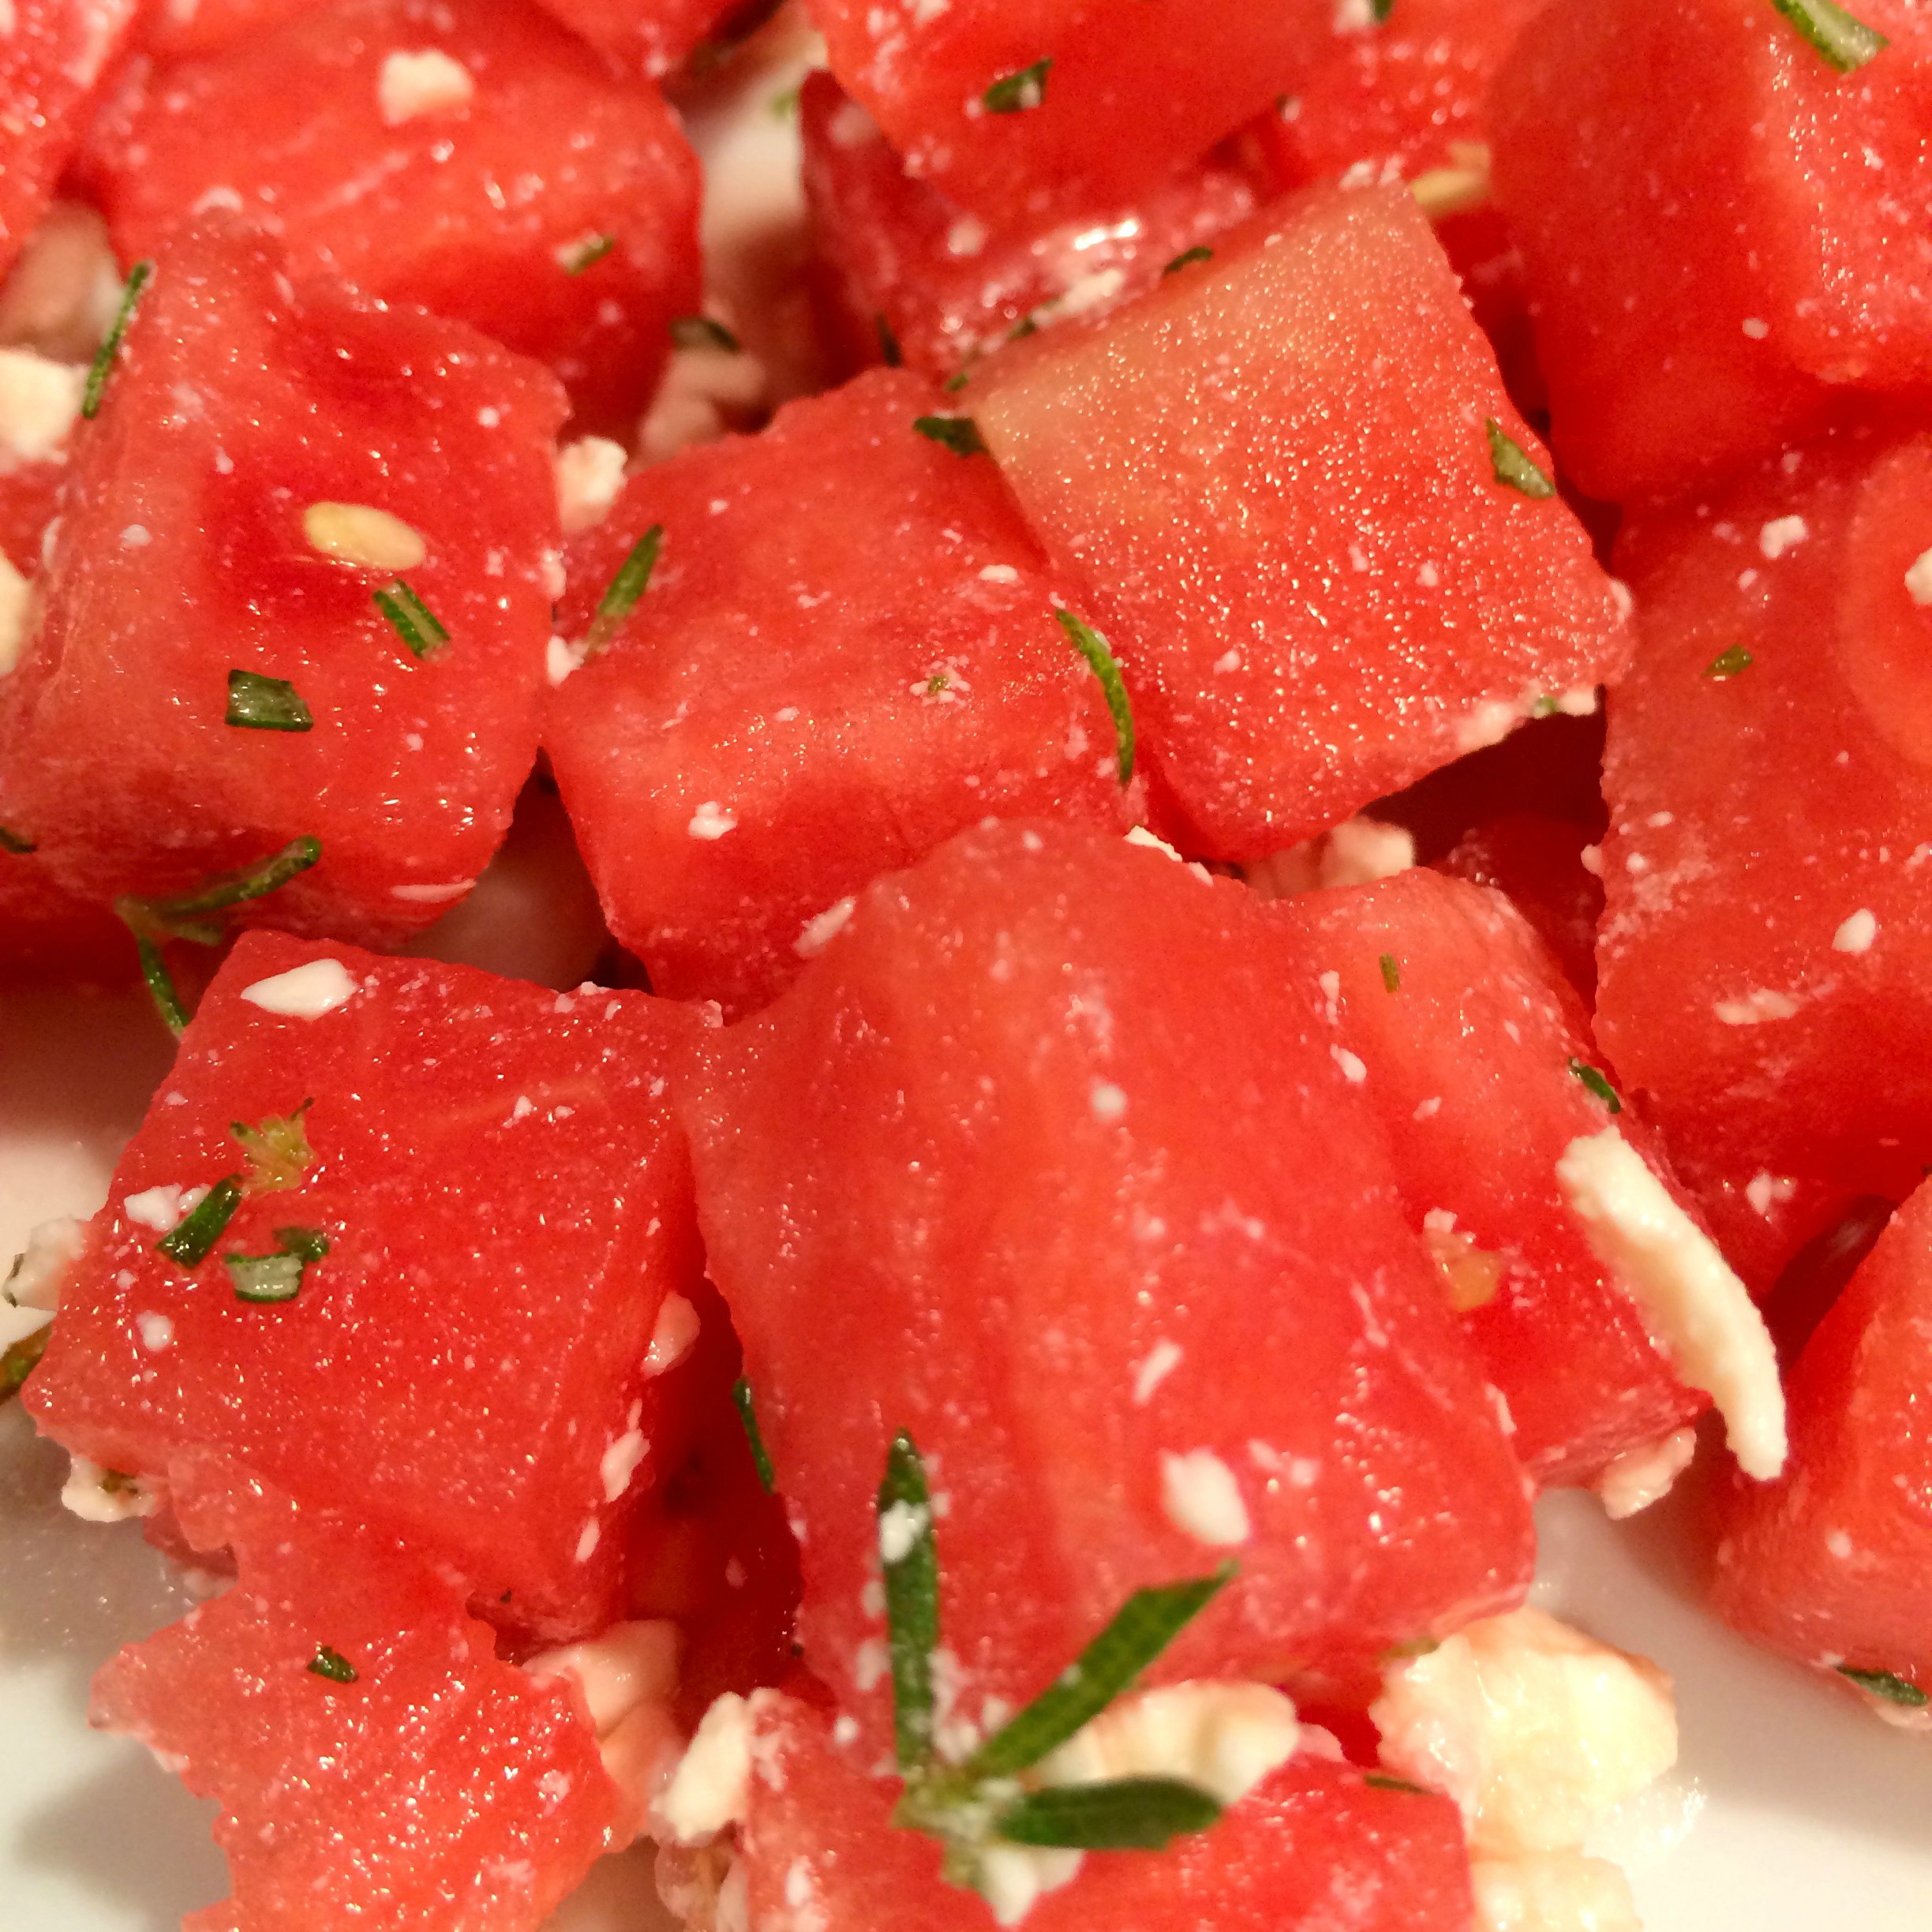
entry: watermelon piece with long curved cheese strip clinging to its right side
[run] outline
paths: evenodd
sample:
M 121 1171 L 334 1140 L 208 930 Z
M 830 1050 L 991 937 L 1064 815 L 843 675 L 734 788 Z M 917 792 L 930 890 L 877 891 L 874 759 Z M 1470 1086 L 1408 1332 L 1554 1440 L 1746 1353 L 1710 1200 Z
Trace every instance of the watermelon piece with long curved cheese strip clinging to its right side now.
M 1381 1115 L 1410 1223 L 1501 1389 L 1524 1468 L 1588 1482 L 1704 1408 L 1594 1256 L 1557 1182 L 1605 1126 L 1582 1005 L 1493 893 L 1410 869 L 1273 908 L 1337 1053 Z M 1602 1082 L 1602 1074 L 1596 1074 Z M 1615 1095 L 1611 1094 L 1611 1099 Z M 1642 1128 L 1619 1121 L 1648 1151 Z

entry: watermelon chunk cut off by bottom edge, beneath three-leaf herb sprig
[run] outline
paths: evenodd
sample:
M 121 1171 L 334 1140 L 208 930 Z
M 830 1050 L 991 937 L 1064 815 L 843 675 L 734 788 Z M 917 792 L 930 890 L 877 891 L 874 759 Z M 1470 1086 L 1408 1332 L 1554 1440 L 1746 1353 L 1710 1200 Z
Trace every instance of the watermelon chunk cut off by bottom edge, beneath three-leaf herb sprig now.
M 748 1814 L 738 1833 L 752 1924 L 821 1932 L 983 1932 L 970 1891 L 939 1876 L 939 1847 L 891 1822 L 896 1783 L 852 1768 L 825 1719 L 759 1700 Z M 1094 1853 L 1041 1897 L 1030 1932 L 1449 1932 L 1470 1922 L 1455 1804 L 1366 1783 L 1298 1754 L 1202 1837 L 1165 1853 Z

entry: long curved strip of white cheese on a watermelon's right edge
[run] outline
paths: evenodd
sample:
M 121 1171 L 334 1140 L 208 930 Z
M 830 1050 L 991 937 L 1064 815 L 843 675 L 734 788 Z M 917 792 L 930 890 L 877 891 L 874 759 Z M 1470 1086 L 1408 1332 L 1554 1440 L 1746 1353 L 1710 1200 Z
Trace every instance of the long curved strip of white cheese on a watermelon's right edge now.
M 1776 1476 L 1785 1466 L 1785 1395 L 1745 1283 L 1615 1126 L 1573 1140 L 1557 1184 L 1677 1374 L 1718 1405 L 1739 1466 Z

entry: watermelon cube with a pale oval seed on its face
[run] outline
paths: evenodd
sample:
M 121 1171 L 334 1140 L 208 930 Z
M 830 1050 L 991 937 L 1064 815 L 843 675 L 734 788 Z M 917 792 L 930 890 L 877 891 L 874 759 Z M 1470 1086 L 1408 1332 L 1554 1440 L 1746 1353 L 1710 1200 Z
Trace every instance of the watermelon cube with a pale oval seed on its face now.
M 236 232 L 170 247 L 0 680 L 0 823 L 95 902 L 315 837 L 257 916 L 375 941 L 435 918 L 535 757 L 562 413 L 547 371 L 469 328 L 292 292 Z M 311 535 L 330 504 L 400 526 L 344 562 Z M 398 570 L 448 632 L 427 657 L 375 603 Z M 294 684 L 313 728 L 226 723 L 238 672 Z

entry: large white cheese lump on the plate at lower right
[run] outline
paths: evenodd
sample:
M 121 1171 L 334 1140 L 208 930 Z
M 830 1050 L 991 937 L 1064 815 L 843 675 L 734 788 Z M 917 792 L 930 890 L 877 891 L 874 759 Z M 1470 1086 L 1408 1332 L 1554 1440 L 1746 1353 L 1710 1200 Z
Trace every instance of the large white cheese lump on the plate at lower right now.
M 1663 1671 L 1540 1609 L 1399 1663 L 1370 1718 L 1383 1764 L 1453 1797 L 1484 1857 L 1580 1845 L 1677 1762 Z

